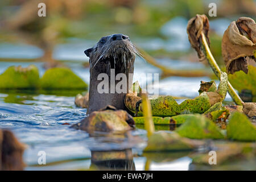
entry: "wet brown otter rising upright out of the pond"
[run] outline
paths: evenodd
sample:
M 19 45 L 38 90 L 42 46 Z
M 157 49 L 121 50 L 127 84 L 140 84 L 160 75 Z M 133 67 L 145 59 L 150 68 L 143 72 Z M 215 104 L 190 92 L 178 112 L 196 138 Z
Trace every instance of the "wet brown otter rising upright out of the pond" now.
M 139 55 L 129 37 L 123 34 L 104 36 L 94 47 L 86 49 L 84 52 L 90 58 L 89 108 L 87 114 L 100 110 L 107 105 L 125 110 L 124 97 L 133 81 L 133 76 L 129 77 L 129 73 L 133 73 L 134 60 Z M 126 93 L 117 93 L 116 90 L 114 93 L 110 93 L 110 88 L 113 86 L 111 84 L 116 85 L 120 81 L 114 78 L 115 81 L 110 82 L 110 71 L 113 69 L 114 77 L 118 73 L 126 75 Z M 101 73 L 106 73 L 109 77 L 108 93 L 98 92 L 98 84 L 102 82 L 102 80 L 98 80 L 98 75 Z

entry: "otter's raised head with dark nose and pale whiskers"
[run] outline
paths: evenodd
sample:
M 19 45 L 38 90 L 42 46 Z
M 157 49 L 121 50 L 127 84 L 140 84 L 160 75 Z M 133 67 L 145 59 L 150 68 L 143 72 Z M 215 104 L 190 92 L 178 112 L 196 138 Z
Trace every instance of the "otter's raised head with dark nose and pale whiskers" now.
M 133 69 L 135 56 L 139 54 L 129 36 L 123 34 L 104 36 L 84 53 L 90 58 L 90 68 L 109 76 L 110 69 L 115 69 L 116 73 L 127 73 L 129 68 Z

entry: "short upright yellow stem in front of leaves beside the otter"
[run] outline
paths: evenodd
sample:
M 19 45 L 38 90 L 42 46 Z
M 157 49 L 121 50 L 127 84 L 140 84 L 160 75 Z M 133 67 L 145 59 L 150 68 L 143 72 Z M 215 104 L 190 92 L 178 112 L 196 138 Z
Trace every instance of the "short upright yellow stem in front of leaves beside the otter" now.
M 147 94 L 142 94 L 142 111 L 147 137 L 150 137 L 155 132 L 155 125 L 152 119 L 151 104 L 147 98 Z

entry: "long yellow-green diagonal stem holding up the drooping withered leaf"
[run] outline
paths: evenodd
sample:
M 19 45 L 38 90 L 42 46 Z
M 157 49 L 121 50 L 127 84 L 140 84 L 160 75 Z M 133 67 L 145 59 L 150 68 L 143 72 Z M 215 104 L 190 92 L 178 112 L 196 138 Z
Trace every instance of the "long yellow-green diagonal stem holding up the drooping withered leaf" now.
M 202 38 L 202 44 L 203 44 L 203 49 L 205 52 L 205 56 L 207 57 L 207 61 L 212 68 L 213 72 L 215 75 L 220 79 L 221 75 L 221 69 L 218 67 L 218 64 L 216 63 L 216 60 L 214 59 L 212 52 L 210 52 L 210 48 L 208 46 L 207 40 L 205 39 L 205 35 L 203 32 L 201 32 L 201 38 Z M 242 105 L 243 101 L 241 98 L 238 96 L 236 90 L 234 90 L 233 86 L 228 82 L 228 92 L 230 96 L 233 98 L 233 101 L 236 102 L 237 105 Z

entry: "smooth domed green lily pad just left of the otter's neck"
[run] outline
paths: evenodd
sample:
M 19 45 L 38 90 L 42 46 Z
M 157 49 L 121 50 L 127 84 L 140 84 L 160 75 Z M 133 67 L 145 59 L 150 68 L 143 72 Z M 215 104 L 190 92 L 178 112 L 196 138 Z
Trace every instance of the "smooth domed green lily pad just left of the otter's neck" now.
M 41 78 L 43 89 L 87 89 L 88 85 L 69 68 L 51 68 Z

